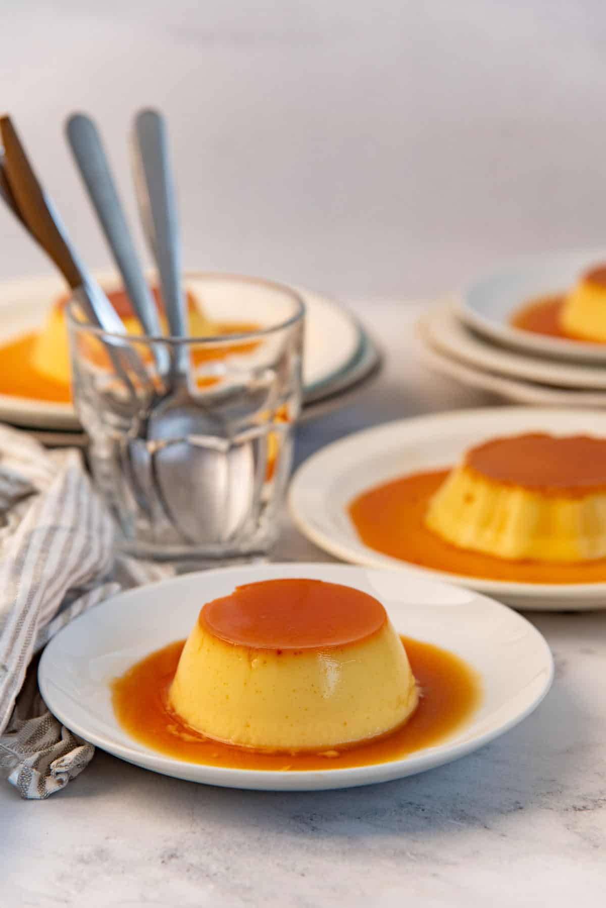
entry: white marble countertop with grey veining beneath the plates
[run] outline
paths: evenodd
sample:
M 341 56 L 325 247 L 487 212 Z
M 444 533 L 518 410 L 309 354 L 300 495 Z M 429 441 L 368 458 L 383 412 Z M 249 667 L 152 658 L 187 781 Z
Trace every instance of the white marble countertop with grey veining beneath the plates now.
M 418 307 L 356 307 L 390 354 L 357 403 L 300 429 L 298 458 L 345 432 L 477 406 L 412 355 Z M 280 558 L 327 560 L 288 526 Z M 601 906 L 606 877 L 606 615 L 530 615 L 556 659 L 539 709 L 476 754 L 349 791 L 194 785 L 97 752 L 64 792 L 0 785 L 6 908 Z

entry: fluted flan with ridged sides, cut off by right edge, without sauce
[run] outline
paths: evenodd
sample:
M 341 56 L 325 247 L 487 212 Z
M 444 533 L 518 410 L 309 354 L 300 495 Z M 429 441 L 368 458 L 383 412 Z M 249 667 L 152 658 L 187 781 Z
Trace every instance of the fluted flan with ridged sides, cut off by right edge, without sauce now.
M 606 439 L 492 439 L 452 469 L 424 522 L 453 546 L 498 558 L 604 558 Z

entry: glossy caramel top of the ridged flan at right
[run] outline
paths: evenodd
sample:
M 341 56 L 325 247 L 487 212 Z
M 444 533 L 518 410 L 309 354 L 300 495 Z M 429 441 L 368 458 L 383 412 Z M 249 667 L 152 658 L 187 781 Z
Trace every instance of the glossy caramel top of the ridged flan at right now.
M 544 495 L 582 498 L 606 492 L 606 439 L 542 432 L 492 439 L 472 448 L 465 466 L 485 479 Z

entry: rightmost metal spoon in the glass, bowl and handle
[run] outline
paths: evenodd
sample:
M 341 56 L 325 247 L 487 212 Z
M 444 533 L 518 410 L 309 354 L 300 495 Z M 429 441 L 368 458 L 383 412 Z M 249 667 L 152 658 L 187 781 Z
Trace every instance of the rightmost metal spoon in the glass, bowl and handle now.
M 144 227 L 160 272 L 174 338 L 187 336 L 181 286 L 181 247 L 164 119 L 145 110 L 134 123 L 135 186 Z M 243 525 L 253 503 L 250 444 L 233 445 L 221 403 L 204 406 L 196 394 L 187 344 L 174 345 L 172 390 L 149 416 L 158 442 L 155 474 L 176 528 L 191 543 L 223 542 Z

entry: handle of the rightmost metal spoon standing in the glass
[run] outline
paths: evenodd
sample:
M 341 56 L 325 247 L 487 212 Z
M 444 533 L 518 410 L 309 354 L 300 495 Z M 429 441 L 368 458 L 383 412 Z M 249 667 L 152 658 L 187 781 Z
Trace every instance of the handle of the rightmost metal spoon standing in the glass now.
M 149 212 L 153 228 L 153 249 L 160 274 L 166 317 L 174 337 L 188 334 L 184 291 L 181 284 L 181 244 L 176 198 L 171 173 L 166 125 L 154 110 L 144 110 L 134 121 L 135 166 L 140 167 L 136 181 L 144 191 L 140 206 Z M 149 226 L 149 225 L 148 225 Z M 178 370 L 186 368 L 187 350 L 177 346 Z

